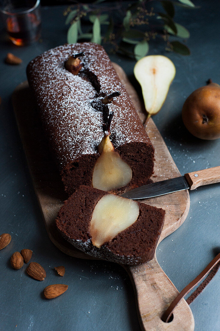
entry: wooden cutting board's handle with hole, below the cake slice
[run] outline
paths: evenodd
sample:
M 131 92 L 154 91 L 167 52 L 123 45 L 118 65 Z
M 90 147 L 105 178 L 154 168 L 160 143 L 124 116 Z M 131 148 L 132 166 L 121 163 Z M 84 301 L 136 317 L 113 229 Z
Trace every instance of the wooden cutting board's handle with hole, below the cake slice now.
M 126 270 L 135 289 L 143 330 L 194 330 L 194 317 L 184 299 L 174 308 L 172 321 L 165 323 L 161 320 L 163 312 L 179 292 L 159 266 L 156 257 L 147 263 L 131 266 L 129 269 Z

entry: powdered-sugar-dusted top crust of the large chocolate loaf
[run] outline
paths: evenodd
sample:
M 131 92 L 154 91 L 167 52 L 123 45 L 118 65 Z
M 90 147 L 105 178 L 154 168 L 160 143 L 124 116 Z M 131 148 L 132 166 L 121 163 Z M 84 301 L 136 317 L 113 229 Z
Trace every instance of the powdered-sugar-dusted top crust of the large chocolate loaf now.
M 86 54 L 81 58 L 83 74 L 73 75 L 65 69 L 65 61 L 81 51 Z M 83 77 L 88 71 L 98 80 L 100 90 L 91 79 Z M 97 153 L 104 134 L 103 112 L 93 104 L 100 100 L 100 95 L 121 92 L 117 100 L 108 104 L 109 111 L 114 112 L 110 136 L 113 145 L 117 148 L 131 141 L 146 142 L 147 136 L 140 132 L 137 114 L 129 111 L 133 108 L 132 102 L 108 55 L 99 45 L 78 43 L 51 49 L 31 61 L 28 78 L 35 90 L 47 135 L 62 166 L 83 154 Z

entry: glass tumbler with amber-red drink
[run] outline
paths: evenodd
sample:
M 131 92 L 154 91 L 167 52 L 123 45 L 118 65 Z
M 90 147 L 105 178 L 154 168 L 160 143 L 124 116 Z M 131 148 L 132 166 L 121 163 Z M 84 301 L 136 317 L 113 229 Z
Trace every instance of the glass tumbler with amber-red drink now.
M 28 45 L 40 38 L 40 0 L 3 0 L 0 10 L 9 39 L 15 45 Z

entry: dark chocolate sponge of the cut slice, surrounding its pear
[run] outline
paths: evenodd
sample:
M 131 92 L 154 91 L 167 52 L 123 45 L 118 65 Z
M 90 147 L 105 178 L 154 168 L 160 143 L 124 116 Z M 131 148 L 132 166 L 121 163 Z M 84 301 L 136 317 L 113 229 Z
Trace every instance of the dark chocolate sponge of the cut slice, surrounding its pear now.
M 128 204 L 130 202 L 135 203 L 138 208 L 137 220 L 104 244 L 97 245 L 96 241 L 95 246 L 93 236 L 96 236 L 96 231 L 94 231 L 91 223 L 95 208 L 97 208 L 98 203 L 102 202 L 103 197 L 106 198 L 107 196 L 121 199 Z M 105 210 L 108 209 L 108 203 L 103 206 Z M 112 208 L 110 205 L 109 207 L 110 215 L 112 215 Z M 120 214 L 120 206 L 119 208 L 117 206 L 117 209 L 119 209 Z M 106 215 L 108 224 L 110 218 L 108 218 L 108 214 Z M 162 231 L 164 215 L 165 211 L 163 209 L 82 185 L 61 207 L 56 225 L 67 241 L 91 256 L 123 264 L 137 264 L 153 259 Z M 100 217 L 102 218 L 103 214 L 100 214 Z M 114 224 L 113 230 L 115 227 Z M 107 228 L 108 225 L 104 225 L 104 231 L 108 231 Z M 91 232 L 93 232 L 93 235 L 91 235 Z

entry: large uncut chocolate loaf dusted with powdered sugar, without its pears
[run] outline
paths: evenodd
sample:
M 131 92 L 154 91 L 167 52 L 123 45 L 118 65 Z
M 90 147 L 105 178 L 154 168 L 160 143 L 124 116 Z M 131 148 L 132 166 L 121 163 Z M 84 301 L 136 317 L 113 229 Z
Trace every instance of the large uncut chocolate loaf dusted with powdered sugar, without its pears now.
M 85 55 L 77 59 L 76 71 L 70 70 L 68 59 L 81 52 Z M 115 184 L 105 190 L 121 193 L 147 182 L 153 173 L 154 147 L 102 46 L 88 42 L 51 49 L 28 64 L 27 78 L 69 195 L 81 184 L 102 188 L 93 185 L 93 171 L 110 113 L 110 142 L 130 174 L 120 181 L 121 187 Z M 118 93 L 113 101 L 103 102 L 114 92 Z

